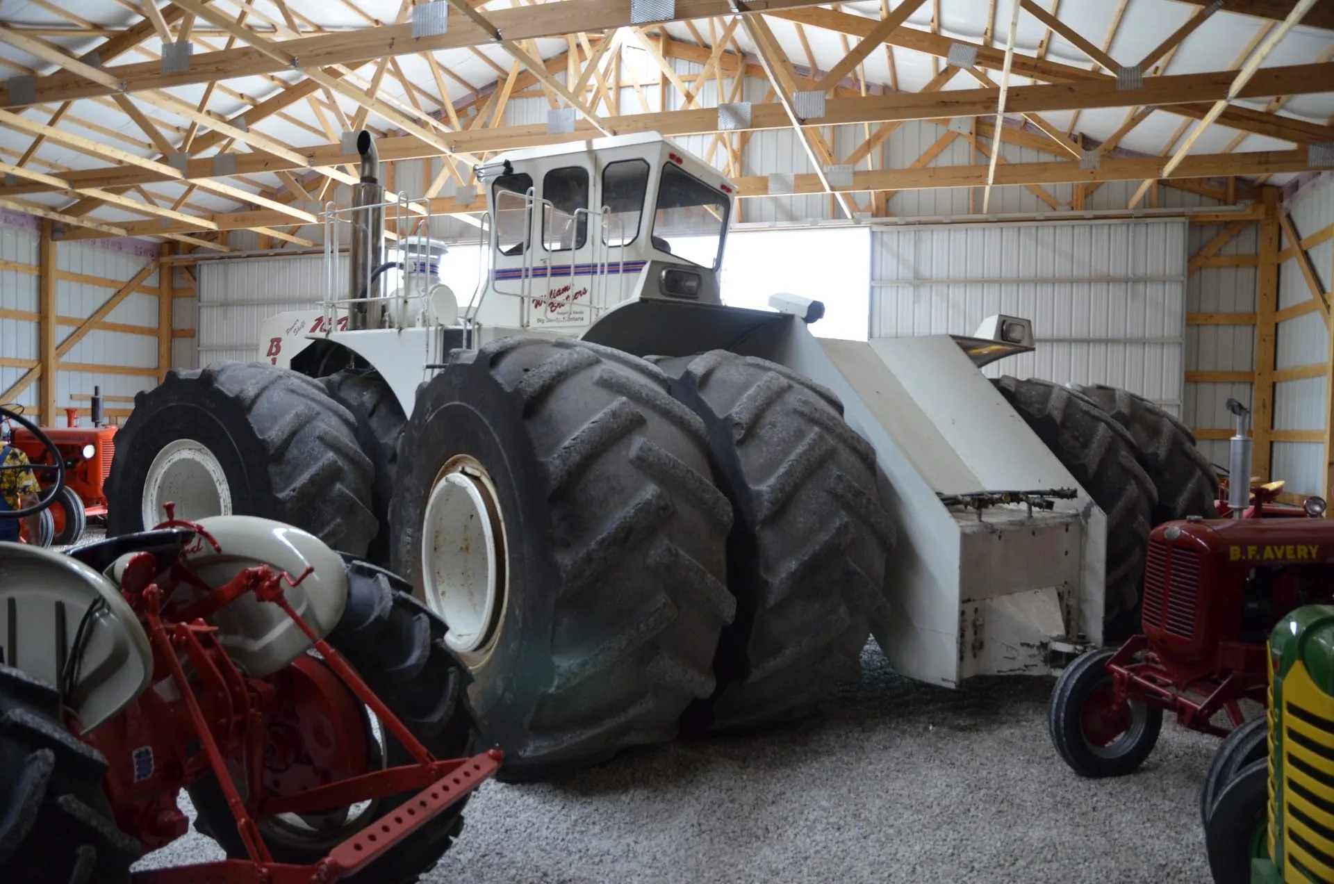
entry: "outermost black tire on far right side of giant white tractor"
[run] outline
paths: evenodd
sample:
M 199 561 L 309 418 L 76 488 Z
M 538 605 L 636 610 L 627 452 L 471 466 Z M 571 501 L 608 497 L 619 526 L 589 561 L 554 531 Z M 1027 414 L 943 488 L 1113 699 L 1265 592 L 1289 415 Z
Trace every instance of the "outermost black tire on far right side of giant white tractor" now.
M 1158 491 L 1154 525 L 1199 515 L 1214 518 L 1218 473 L 1185 423 L 1130 390 L 1094 385 L 1075 387 L 1130 431 L 1139 466 Z

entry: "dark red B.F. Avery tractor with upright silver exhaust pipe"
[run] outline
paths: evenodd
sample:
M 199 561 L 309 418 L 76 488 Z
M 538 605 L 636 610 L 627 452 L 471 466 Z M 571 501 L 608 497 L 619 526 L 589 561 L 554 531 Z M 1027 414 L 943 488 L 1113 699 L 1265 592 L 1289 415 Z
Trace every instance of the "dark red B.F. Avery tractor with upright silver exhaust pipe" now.
M 1245 477 L 1249 413 L 1235 401 L 1229 409 L 1238 415 L 1230 473 Z M 1281 482 L 1247 486 L 1234 481 L 1217 519 L 1153 530 L 1143 632 L 1081 656 L 1061 674 L 1049 725 L 1075 773 L 1135 770 L 1158 741 L 1163 710 L 1193 730 L 1226 736 L 1245 721 L 1242 701 L 1266 704 L 1265 642 L 1274 624 L 1302 605 L 1334 601 L 1334 521 L 1319 518 L 1325 501 L 1282 506 L 1274 502 Z

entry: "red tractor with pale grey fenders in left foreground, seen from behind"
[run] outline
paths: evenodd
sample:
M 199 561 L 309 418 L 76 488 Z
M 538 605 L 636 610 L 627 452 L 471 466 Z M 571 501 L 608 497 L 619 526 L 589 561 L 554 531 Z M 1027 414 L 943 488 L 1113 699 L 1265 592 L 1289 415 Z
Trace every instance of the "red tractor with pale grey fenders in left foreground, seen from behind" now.
M 502 760 L 468 754 L 444 632 L 394 574 L 269 519 L 0 542 L 0 880 L 418 880 Z M 181 789 L 228 859 L 131 875 L 185 833 Z

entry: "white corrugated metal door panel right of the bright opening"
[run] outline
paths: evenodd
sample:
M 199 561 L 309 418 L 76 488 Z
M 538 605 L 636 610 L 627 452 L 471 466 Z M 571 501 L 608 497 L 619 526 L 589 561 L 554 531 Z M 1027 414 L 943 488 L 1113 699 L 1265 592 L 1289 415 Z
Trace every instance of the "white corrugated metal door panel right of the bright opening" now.
M 936 224 L 872 234 L 871 337 L 970 334 L 1033 319 L 1038 349 L 999 377 L 1110 383 L 1179 413 L 1186 222 Z

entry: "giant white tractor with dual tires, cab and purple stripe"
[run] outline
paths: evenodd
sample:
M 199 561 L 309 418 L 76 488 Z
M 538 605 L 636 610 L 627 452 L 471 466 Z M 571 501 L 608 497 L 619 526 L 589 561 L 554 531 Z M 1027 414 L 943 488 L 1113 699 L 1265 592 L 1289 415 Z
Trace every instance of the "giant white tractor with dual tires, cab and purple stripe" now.
M 1138 622 L 1151 523 L 1213 511 L 1151 403 L 983 377 L 1034 347 L 1025 319 L 855 342 L 811 334 L 816 300 L 723 306 L 735 187 L 658 135 L 478 168 L 466 303 L 358 146 L 323 308 L 272 319 L 265 363 L 136 398 L 109 526 L 172 501 L 390 566 L 448 625 L 503 776 L 804 714 L 871 633 L 936 685 L 1050 672 Z

